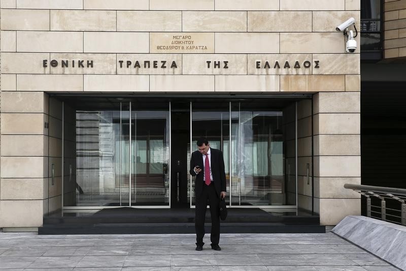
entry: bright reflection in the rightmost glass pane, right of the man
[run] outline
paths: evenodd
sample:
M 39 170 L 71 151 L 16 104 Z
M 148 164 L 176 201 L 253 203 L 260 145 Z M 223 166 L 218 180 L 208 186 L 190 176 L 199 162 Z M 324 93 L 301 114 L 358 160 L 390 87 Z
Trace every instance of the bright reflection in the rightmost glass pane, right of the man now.
M 282 111 L 233 108 L 232 204 L 284 205 Z

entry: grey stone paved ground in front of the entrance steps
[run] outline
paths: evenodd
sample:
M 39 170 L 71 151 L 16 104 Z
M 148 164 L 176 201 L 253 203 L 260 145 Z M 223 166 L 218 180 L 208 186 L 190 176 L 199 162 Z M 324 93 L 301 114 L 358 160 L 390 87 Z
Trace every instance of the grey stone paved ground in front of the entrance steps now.
M 332 232 L 222 234 L 195 251 L 194 234 L 37 235 L 0 232 L 0 270 L 398 270 Z

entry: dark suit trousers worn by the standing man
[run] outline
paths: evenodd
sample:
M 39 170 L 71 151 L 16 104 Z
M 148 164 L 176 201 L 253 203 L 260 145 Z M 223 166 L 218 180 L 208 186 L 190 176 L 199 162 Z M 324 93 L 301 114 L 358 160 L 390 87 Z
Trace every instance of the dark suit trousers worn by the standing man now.
M 220 198 L 217 196 L 216 188 L 213 182 L 210 186 L 206 184 L 199 197 L 196 197 L 196 214 L 194 227 L 196 230 L 196 245 L 203 245 L 203 236 L 205 236 L 206 210 L 209 201 L 210 215 L 212 218 L 212 229 L 210 231 L 210 240 L 212 244 L 218 245 L 220 240 Z

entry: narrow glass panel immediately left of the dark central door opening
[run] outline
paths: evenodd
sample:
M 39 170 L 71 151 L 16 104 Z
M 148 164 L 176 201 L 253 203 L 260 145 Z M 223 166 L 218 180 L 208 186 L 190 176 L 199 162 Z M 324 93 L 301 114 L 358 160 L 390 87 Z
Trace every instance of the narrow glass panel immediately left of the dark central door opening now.
M 166 106 L 166 111 L 131 112 L 131 205 L 169 205 L 170 113 Z

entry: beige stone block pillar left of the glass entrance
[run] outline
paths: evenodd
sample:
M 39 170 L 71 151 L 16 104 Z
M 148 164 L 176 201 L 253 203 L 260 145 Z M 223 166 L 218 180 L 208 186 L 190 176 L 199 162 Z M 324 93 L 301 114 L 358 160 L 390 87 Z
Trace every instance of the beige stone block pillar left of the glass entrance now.
M 48 198 L 48 95 L 2 93 L 1 227 L 39 227 Z

